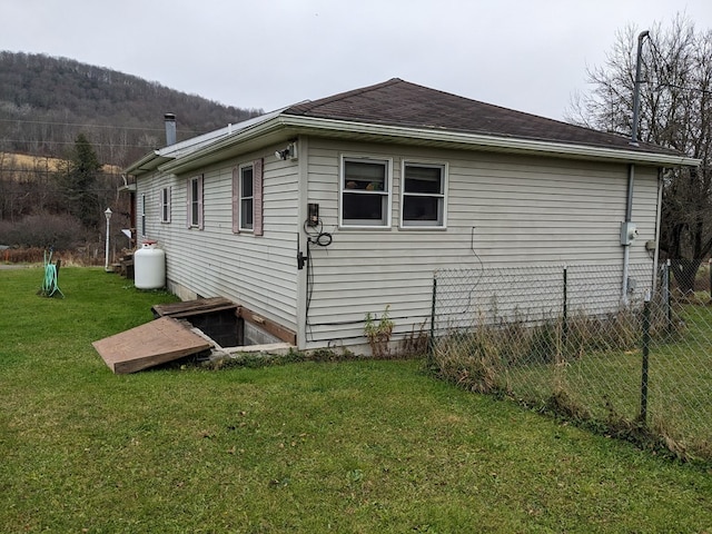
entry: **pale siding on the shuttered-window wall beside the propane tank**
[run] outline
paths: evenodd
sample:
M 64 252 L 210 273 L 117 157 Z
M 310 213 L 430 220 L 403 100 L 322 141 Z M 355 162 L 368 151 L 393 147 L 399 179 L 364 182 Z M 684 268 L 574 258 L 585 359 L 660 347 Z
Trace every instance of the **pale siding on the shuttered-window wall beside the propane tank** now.
M 261 155 L 256 154 L 205 169 L 202 231 L 160 225 L 155 202 L 157 212 L 148 217 L 148 234 L 166 251 L 168 284 L 181 298 L 222 296 L 296 332 L 297 168 L 275 160 L 274 151 L 266 151 L 264 159 L 263 238 L 256 238 L 256 233 L 233 233 L 233 169 L 244 161 L 260 161 Z M 187 218 L 191 202 L 186 184 L 192 177 L 141 177 L 137 188 L 158 196 L 160 188 L 176 186 L 172 215 Z

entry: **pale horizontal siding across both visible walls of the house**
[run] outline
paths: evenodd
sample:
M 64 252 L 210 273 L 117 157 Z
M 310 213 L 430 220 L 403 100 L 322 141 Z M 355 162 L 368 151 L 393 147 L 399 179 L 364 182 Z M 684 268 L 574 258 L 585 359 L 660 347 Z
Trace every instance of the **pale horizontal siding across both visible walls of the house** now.
M 187 217 L 181 211 L 189 206 L 186 182 L 195 175 L 139 177 L 137 198 L 152 199 L 147 204 L 145 234 L 166 250 L 170 287 L 202 297 L 225 296 L 295 332 L 300 329 L 297 309 L 309 295 L 299 345 L 317 348 L 364 345 L 366 314 L 378 317 L 388 305 L 395 339 L 427 330 L 437 269 L 622 267 L 625 165 L 320 138 L 308 141 L 299 164 L 275 158 L 277 146 L 201 169 L 206 199 L 201 233 L 185 225 L 161 225 L 156 200 L 161 188 L 176 186 L 172 216 Z M 258 238 L 256 233 L 233 233 L 233 177 L 234 169 L 261 157 L 264 236 Z M 342 225 L 343 160 L 352 157 L 387 161 L 385 227 Z M 406 162 L 444 166 L 444 227 L 414 229 L 402 220 Z M 656 198 L 657 169 L 636 167 L 633 221 L 639 237 L 630 248 L 631 264 L 651 263 L 644 244 L 656 238 Z M 326 247 L 307 244 L 307 202 L 319 206 L 322 227 L 333 238 Z M 309 254 L 308 277 L 306 268 L 297 269 L 299 233 L 301 250 Z

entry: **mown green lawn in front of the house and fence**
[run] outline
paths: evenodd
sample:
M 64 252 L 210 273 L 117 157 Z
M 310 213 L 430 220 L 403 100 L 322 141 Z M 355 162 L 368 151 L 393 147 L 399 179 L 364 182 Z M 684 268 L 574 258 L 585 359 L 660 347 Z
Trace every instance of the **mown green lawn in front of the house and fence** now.
M 0 271 L 0 531 L 712 531 L 699 467 L 468 394 L 406 362 L 116 376 L 91 342 L 162 293 Z

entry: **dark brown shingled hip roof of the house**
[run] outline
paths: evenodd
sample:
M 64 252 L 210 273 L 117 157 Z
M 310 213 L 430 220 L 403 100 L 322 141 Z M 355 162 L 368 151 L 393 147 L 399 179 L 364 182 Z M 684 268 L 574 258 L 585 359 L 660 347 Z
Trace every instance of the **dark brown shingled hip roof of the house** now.
M 644 142 L 634 147 L 626 137 L 471 100 L 398 78 L 301 102 L 285 109 L 283 113 L 680 155 L 676 150 Z

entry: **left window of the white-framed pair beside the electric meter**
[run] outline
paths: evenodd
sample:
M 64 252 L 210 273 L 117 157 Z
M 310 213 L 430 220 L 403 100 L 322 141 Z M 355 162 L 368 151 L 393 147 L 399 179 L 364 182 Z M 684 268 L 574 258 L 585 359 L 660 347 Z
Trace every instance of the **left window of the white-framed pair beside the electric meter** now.
M 342 158 L 342 226 L 390 226 L 390 161 Z

